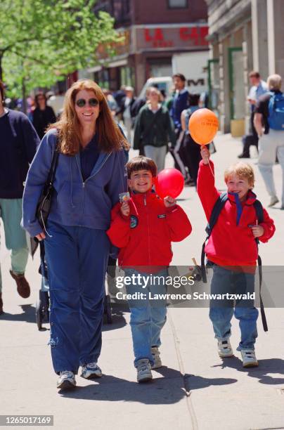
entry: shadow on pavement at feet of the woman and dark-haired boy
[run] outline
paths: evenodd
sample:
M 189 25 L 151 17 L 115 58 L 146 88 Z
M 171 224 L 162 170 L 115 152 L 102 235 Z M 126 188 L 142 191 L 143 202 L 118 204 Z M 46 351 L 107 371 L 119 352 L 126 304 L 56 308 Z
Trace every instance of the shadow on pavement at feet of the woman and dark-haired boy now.
M 58 393 L 65 398 L 138 402 L 145 405 L 172 405 L 186 398 L 183 377 L 178 370 L 162 367 L 159 373 L 164 377 L 158 377 L 145 384 L 105 374 L 101 379 L 93 380 L 88 386 L 77 386 L 72 391 L 60 390 Z M 79 378 L 77 383 L 79 384 Z

